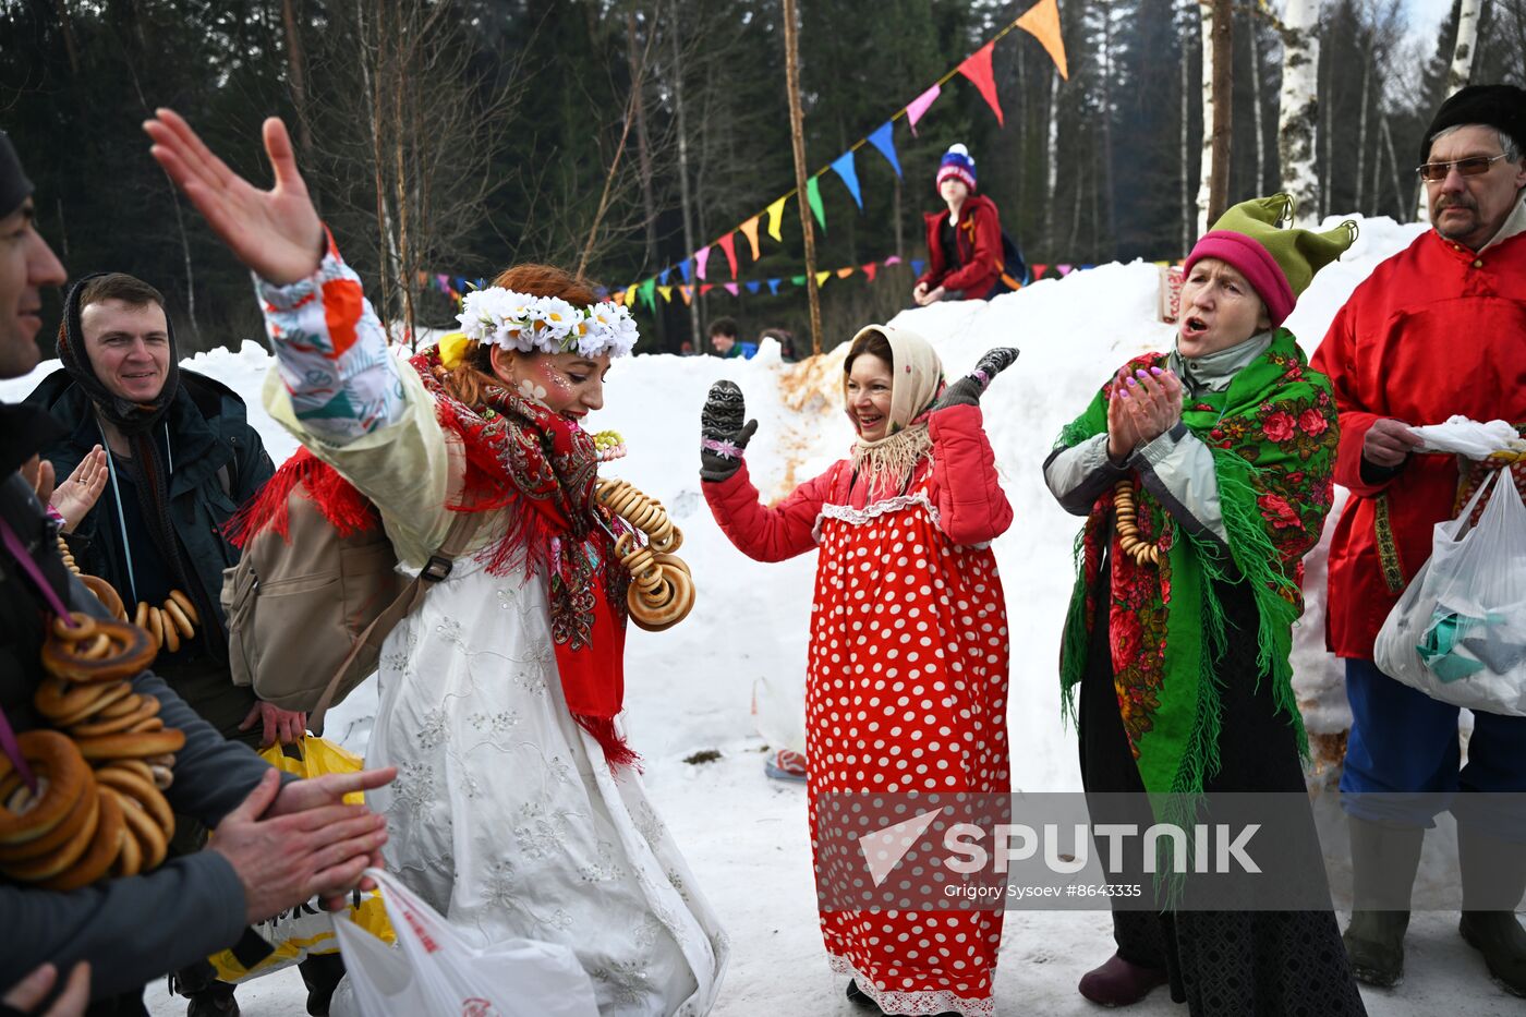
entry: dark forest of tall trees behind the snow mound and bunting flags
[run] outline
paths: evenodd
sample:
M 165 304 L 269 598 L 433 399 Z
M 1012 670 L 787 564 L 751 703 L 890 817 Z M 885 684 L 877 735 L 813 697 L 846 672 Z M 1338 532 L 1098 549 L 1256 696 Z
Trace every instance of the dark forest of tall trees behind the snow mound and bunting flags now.
M 806 162 L 815 171 L 955 67 L 1032 0 L 798 0 Z M 1006 124 L 955 78 L 894 128 L 903 177 L 865 147 L 864 211 L 821 180 L 821 269 L 884 263 L 821 290 L 824 345 L 909 304 L 922 214 L 952 142 L 1030 264 L 1175 260 L 1196 231 L 1201 113 L 1193 0 L 1061 0 L 1068 78 L 1033 37 L 993 52 Z M 1315 170 L 1323 214 L 1415 217 L 1425 124 L 1459 8 L 1431 38 L 1399 0 L 1320 8 Z M 1235 14 L 1230 200 L 1277 189 L 1282 32 Z M 407 341 L 453 325 L 435 279 L 523 261 L 610 287 L 676 266 L 794 188 L 780 0 L 0 0 L 0 128 L 38 185 L 43 234 L 73 276 L 160 287 L 182 354 L 258 337 L 252 287 L 148 157 L 139 124 L 183 113 L 252 179 L 258 125 L 291 127 L 319 209 L 368 295 Z M 1526 0 L 1483 0 L 1474 82 L 1526 84 Z M 1050 156 L 1053 153 L 1053 166 Z M 1053 171 L 1053 176 L 1051 176 Z M 798 212 L 739 278 L 778 295 L 674 289 L 636 308 L 642 351 L 702 348 L 717 316 L 781 327 L 809 351 Z M 729 281 L 716 252 L 711 279 Z M 720 266 L 717 270 L 716 266 Z M 697 279 L 696 279 L 697 281 Z M 56 315 L 58 296 L 50 313 Z M 52 354 L 50 339 L 43 339 Z

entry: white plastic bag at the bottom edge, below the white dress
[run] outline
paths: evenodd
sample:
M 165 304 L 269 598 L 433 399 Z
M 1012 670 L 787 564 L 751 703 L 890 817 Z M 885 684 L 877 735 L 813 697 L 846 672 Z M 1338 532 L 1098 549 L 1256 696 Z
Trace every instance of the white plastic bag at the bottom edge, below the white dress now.
M 366 875 L 382 887 L 397 947 L 348 919 L 334 921 L 346 968 L 334 1014 L 598 1017 L 594 983 L 569 947 L 536 939 L 473 947 L 395 877 L 380 869 Z

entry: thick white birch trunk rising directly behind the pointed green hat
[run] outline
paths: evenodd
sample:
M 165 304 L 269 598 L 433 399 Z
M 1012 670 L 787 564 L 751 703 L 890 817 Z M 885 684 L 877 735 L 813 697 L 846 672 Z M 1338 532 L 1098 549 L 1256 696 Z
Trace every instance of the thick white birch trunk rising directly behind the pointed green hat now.
M 1282 23 L 1282 95 L 1277 108 L 1277 160 L 1282 189 L 1297 203 L 1296 221 L 1314 223 L 1320 183 L 1314 140 L 1320 115 L 1318 0 L 1288 0 Z

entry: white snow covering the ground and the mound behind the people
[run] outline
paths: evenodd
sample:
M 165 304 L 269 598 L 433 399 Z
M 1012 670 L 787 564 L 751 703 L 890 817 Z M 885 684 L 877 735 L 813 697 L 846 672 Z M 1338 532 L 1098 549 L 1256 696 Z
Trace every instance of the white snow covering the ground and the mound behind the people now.
M 1346 258 L 1326 269 L 1288 325 L 1312 350 L 1331 318 L 1372 267 L 1407 244 L 1416 226 L 1363 223 Z M 986 426 L 996 449 L 1003 486 L 1016 510 L 995 550 L 1007 592 L 1012 635 L 1012 773 L 1024 791 L 1079 789 L 1076 745 L 1059 724 L 1058 660 L 1061 622 L 1071 585 L 1070 547 L 1077 519 L 1064 515 L 1044 489 L 1039 467 L 1061 426 L 1096 386 L 1129 356 L 1170 344 L 1170 327 L 1155 319 L 1157 267 L 1109 264 L 1064 279 L 1045 279 L 990 304 L 948 304 L 908 312 L 897 324 L 920 331 L 943 356 L 951 377 L 969 370 L 993 345 L 1018 345 L 1022 357 L 984 399 Z M 717 1014 L 848 1014 L 842 979 L 826 967 L 816 931 L 804 789 L 769 782 L 761 773 L 761 721 L 774 745 L 800 738 L 798 704 L 806 658 L 813 556 L 760 565 L 734 551 L 699 496 L 697 423 L 710 383 L 729 377 L 760 420 L 748 449 L 752 473 L 769 498 L 826 469 L 852 440 L 839 412 L 842 348 L 810 365 L 783 365 L 769 345 L 751 362 L 711 357 L 636 357 L 609 376 L 606 409 L 595 426 L 626 435 L 630 457 L 615 473 L 668 505 L 684 528 L 682 556 L 699 588 L 693 615 L 676 629 L 632 629 L 627 657 L 627 719 L 632 742 L 647 759 L 647 783 L 699 884 L 731 931 L 734 953 Z M 264 350 L 214 351 L 186 362 L 246 396 L 250 418 L 279 461 L 291 440 L 259 409 L 269 368 Z M 0 397 L 18 399 L 44 371 L 0 383 Z M 1323 649 L 1323 556 L 1311 559 L 1309 614 L 1297 634 L 1297 687 L 1309 730 L 1317 736 L 1315 811 L 1332 854 L 1344 852 L 1334 796 L 1335 747 L 1349 724 L 1340 667 Z M 761 683 L 768 683 L 766 686 Z M 761 718 L 749 716 L 757 702 Z M 375 709 L 371 686 L 331 715 L 330 736 L 363 751 Z M 693 765 L 697 750 L 720 759 Z M 1451 864 L 1454 840 L 1445 826 L 1428 838 L 1424 872 Z M 1422 889 L 1428 878 L 1422 872 Z M 1433 877 L 1431 877 L 1433 881 Z M 1094 1012 L 1076 993 L 1080 974 L 1112 950 L 1105 912 L 1012 912 L 996 980 L 1003 1014 Z M 1485 977 L 1483 964 L 1456 933 L 1456 915 L 1418 913 L 1408 938 L 1408 979 L 1399 993 L 1369 991 L 1375 1015 L 1408 1017 L 1444 1011 L 1483 1015 L 1521 1012 Z M 240 990 L 246 1014 L 302 1014 L 296 971 Z M 182 1003 L 160 986 L 151 1011 L 177 1014 Z M 861 1012 L 861 1011 L 853 1011 Z M 1180 1012 L 1164 993 L 1138 1014 Z

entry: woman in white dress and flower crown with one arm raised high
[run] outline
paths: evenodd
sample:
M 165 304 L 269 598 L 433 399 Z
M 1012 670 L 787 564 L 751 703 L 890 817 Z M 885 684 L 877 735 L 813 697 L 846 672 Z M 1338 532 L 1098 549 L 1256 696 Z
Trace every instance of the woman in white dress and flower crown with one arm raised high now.
M 359 490 L 421 568 L 462 513 L 482 513 L 470 551 L 382 651 L 366 760 L 398 767 L 371 800 L 389 866 L 468 935 L 571 947 L 603 1014 L 707 1012 L 726 939 L 615 725 L 629 580 L 580 426 L 635 324 L 568 273 L 520 266 L 473 295 L 464 336 L 400 362 L 279 121 L 266 122 L 272 191 L 174 113 L 146 130 L 253 270 L 279 368 L 266 406 L 305 447 L 255 524 L 299 475 L 333 519 L 366 510 Z M 327 470 L 345 483 L 311 483 Z

